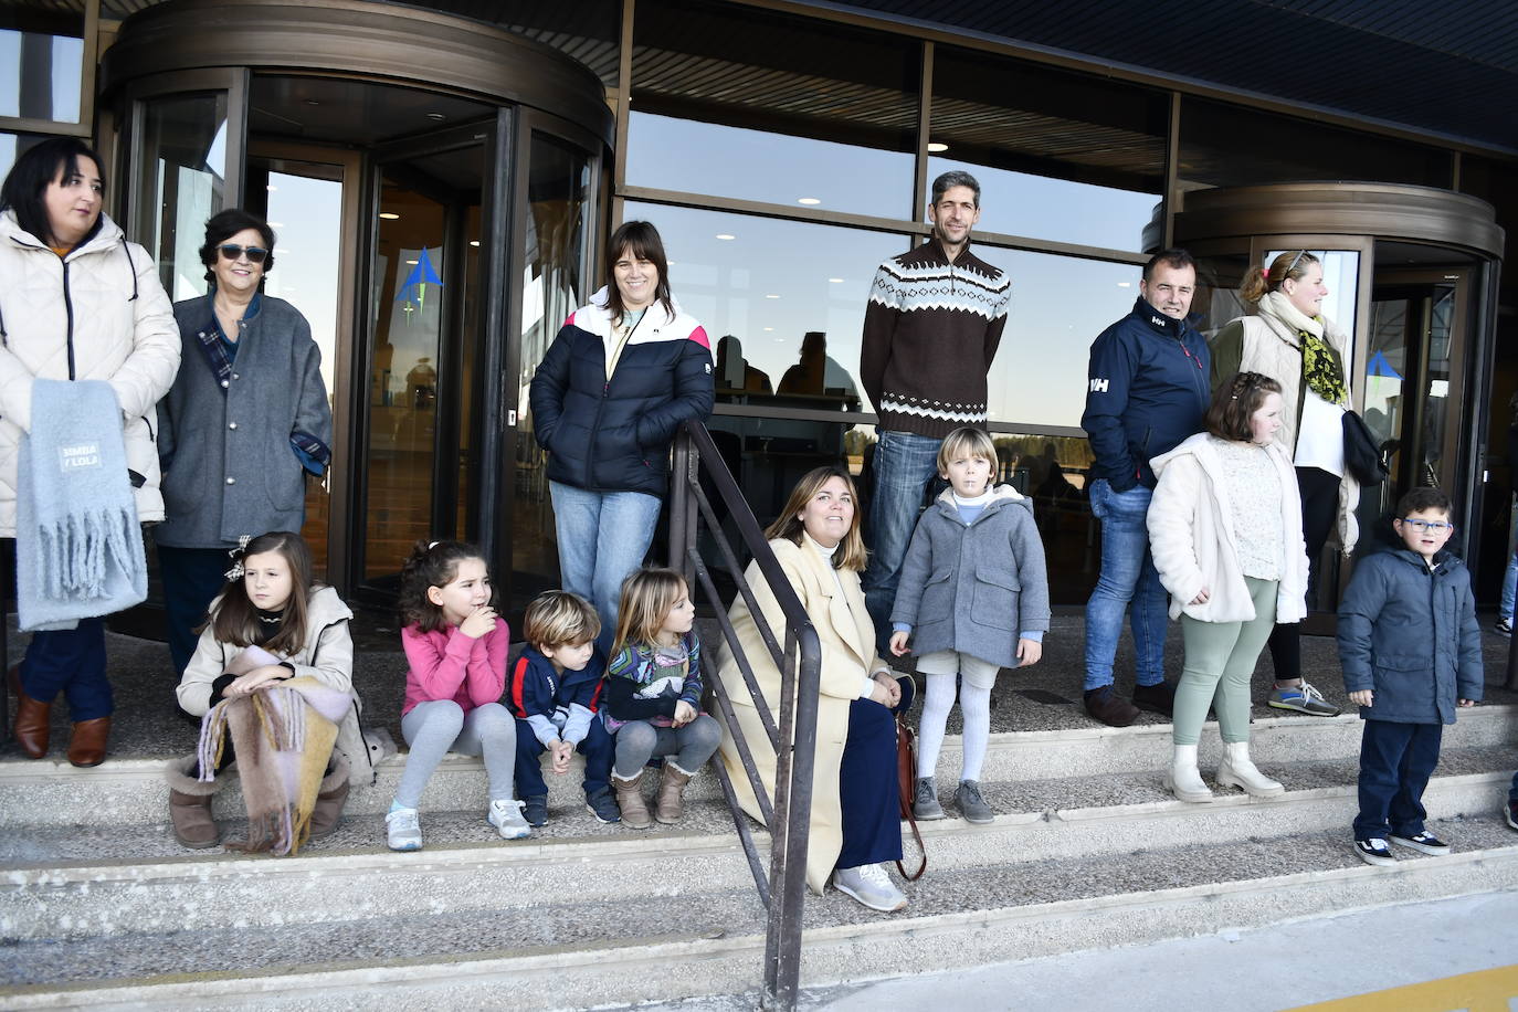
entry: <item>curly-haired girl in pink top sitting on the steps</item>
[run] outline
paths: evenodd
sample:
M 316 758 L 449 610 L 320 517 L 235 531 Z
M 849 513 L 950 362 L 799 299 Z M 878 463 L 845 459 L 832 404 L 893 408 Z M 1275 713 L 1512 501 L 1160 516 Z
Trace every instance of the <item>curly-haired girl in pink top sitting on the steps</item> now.
M 390 850 L 420 850 L 417 804 L 449 751 L 483 756 L 490 778 L 486 821 L 504 839 L 531 830 L 515 795 L 516 721 L 505 690 L 510 631 L 490 607 L 490 574 L 463 542 L 417 542 L 401 567 L 405 706 L 401 734 L 411 753 L 386 816 Z

